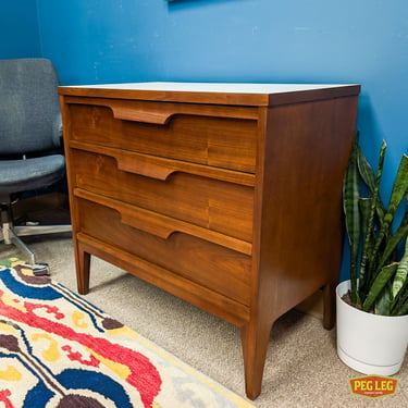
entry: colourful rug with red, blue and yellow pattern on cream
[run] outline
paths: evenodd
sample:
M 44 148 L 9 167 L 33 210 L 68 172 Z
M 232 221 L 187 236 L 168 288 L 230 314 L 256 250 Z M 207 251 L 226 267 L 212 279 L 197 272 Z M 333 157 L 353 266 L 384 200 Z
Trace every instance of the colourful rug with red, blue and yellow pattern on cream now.
M 254 407 L 42 272 L 0 261 L 1 407 Z

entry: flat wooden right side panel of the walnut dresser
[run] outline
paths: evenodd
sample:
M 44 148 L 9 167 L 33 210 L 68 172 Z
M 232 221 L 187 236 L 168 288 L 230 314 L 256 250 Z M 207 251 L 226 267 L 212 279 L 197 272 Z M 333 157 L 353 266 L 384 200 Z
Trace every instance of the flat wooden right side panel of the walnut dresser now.
M 342 186 L 356 112 L 357 97 L 269 109 L 255 250 L 256 301 L 273 316 L 338 279 Z

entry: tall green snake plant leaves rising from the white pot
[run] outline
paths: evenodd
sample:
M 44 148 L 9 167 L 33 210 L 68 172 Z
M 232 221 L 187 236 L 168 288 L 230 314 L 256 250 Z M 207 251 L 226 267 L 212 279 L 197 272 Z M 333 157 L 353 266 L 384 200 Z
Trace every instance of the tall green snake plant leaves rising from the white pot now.
M 381 197 L 386 144 L 374 173 L 354 140 L 343 185 L 350 245 L 351 304 L 383 316 L 408 314 L 408 156 L 404 154 L 387 206 Z

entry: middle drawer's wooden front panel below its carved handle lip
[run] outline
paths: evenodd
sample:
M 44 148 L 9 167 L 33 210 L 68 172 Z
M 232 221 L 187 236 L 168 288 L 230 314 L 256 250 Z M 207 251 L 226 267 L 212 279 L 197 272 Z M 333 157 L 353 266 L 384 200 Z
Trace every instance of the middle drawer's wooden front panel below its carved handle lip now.
M 110 156 L 77 149 L 71 169 L 85 190 L 252 242 L 251 186 L 182 171 L 161 181 L 120 170 Z

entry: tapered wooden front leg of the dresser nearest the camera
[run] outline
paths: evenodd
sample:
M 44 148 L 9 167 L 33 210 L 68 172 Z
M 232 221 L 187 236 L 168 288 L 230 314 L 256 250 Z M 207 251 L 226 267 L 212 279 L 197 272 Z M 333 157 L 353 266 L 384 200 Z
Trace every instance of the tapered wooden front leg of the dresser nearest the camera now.
M 245 366 L 245 388 L 248 398 L 255 399 L 261 393 L 263 368 L 272 323 L 249 322 L 240 327 Z

